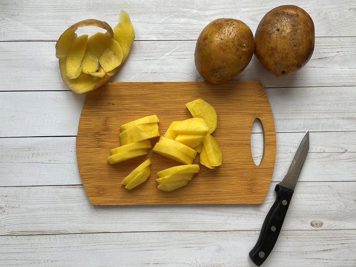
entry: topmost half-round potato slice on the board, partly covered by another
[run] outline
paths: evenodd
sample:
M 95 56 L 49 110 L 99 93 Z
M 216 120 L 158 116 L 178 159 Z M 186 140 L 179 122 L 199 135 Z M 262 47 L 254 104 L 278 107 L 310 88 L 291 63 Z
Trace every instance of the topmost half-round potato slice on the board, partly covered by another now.
M 202 100 L 201 98 L 192 102 L 186 103 L 186 107 L 194 118 L 203 118 L 209 126 L 208 134 L 211 134 L 217 128 L 218 115 L 215 108 Z

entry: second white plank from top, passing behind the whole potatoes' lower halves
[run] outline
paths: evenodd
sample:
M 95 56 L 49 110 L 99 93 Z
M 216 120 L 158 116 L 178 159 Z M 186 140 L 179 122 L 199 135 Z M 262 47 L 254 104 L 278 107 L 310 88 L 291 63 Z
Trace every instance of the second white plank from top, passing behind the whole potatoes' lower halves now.
M 318 38 L 306 66 L 285 77 L 269 73 L 254 56 L 234 80 L 258 80 L 265 88 L 355 86 L 355 42 L 356 37 Z M 194 65 L 195 45 L 196 41 L 134 41 L 128 60 L 110 82 L 203 81 Z M 0 91 L 67 90 L 53 41 L 0 42 L 0 61 L 4 62 L 0 65 Z

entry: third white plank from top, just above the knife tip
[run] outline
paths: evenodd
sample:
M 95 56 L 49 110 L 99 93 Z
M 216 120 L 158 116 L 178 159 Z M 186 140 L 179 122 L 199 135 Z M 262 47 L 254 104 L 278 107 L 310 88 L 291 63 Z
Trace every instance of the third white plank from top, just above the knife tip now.
M 269 88 L 277 132 L 356 131 L 355 87 Z M 85 95 L 0 92 L 0 137 L 75 136 Z

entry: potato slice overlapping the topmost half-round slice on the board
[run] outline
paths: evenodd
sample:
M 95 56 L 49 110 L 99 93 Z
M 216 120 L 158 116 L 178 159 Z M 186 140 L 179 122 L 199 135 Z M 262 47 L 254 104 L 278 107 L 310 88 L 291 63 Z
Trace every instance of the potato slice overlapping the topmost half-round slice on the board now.
M 177 123 L 173 127 L 173 130 L 177 134 L 191 134 L 191 135 L 203 135 L 205 136 L 209 131 L 209 126 L 202 118 L 192 118 Z

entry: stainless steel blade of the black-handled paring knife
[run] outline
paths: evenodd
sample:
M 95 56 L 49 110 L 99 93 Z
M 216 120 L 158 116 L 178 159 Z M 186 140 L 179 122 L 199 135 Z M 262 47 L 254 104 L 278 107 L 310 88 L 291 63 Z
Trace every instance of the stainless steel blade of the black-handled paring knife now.
M 305 158 L 309 151 L 309 131 L 307 131 L 298 146 L 296 155 L 293 158 L 292 164 L 289 166 L 286 176 L 278 185 L 282 185 L 294 190 L 297 185 L 299 174 L 303 168 Z

